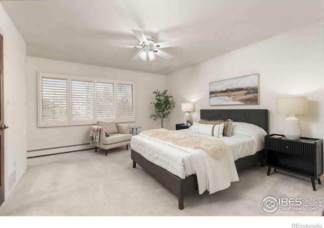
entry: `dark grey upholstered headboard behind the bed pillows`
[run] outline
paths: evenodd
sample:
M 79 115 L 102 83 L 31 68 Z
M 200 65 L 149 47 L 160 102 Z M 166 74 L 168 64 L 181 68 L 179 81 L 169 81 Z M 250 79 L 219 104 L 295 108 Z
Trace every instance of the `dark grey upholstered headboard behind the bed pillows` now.
M 201 109 L 200 119 L 255 124 L 268 133 L 268 109 Z

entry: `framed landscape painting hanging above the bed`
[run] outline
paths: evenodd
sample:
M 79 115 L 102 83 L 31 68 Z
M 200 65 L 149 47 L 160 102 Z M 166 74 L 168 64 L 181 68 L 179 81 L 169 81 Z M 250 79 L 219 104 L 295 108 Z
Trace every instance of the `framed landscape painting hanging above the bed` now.
M 209 105 L 259 104 L 259 74 L 209 84 Z

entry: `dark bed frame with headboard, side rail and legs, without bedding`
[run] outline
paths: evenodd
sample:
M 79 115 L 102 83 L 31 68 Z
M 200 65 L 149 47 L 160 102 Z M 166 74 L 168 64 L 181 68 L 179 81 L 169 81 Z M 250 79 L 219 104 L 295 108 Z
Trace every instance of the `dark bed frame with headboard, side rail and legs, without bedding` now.
M 224 120 L 231 119 L 234 122 L 246 122 L 255 124 L 268 132 L 268 110 L 267 109 L 201 109 L 200 119 Z M 149 162 L 135 150 L 131 150 L 133 168 L 139 164 L 147 173 L 153 176 L 160 183 L 165 185 L 178 197 L 179 209 L 182 210 L 184 197 L 197 192 L 198 184 L 196 175 L 191 175 L 185 179 L 173 175 L 167 170 Z M 255 155 L 241 158 L 235 161 L 237 171 L 251 167 L 257 163 L 264 166 L 264 150 L 258 151 Z

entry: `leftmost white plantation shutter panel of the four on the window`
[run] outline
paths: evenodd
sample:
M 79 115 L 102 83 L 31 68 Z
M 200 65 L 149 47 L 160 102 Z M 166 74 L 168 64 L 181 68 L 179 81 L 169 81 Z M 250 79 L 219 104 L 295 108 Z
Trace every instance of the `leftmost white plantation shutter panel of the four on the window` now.
M 68 124 L 67 75 L 41 72 L 38 83 L 38 126 Z

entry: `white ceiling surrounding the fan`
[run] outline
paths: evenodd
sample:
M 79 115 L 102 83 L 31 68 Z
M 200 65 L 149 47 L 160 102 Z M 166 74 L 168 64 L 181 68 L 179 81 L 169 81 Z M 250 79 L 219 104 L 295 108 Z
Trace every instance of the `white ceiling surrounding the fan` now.
M 26 42 L 28 56 L 169 74 L 322 18 L 322 0 L 0 1 Z M 131 31 L 157 42 L 181 39 L 152 66 L 133 60 Z

